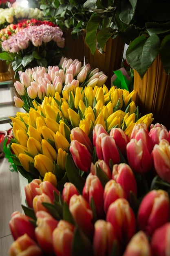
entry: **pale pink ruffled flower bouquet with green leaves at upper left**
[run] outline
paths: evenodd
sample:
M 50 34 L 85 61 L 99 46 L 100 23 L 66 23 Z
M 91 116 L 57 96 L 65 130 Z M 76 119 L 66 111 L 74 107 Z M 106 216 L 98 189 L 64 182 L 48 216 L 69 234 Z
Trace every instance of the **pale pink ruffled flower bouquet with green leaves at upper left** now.
M 59 63 L 64 47 L 60 27 L 52 22 L 24 20 L 16 26 L 16 29 L 17 33 L 14 30 L 7 40 L 2 41 L 2 53 L 0 53 L 0 59 L 11 64 L 15 78 L 18 75 L 17 71 L 24 71 L 27 67 L 37 65 L 47 67 Z

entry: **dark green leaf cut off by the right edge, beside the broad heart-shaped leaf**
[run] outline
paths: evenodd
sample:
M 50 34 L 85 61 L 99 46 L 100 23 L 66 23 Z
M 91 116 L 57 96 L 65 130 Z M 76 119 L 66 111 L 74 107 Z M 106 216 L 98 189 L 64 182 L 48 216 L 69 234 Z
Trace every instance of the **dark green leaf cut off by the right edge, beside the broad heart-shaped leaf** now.
M 170 35 L 163 38 L 160 47 L 160 57 L 166 73 L 170 74 Z

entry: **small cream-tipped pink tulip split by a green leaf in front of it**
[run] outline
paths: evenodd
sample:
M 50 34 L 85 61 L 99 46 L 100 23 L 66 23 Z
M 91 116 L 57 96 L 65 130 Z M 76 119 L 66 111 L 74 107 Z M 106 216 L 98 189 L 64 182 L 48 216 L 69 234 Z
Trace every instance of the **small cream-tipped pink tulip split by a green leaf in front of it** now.
M 104 160 L 97 160 L 95 164 L 91 163 L 90 172 L 93 175 L 97 175 L 97 168 L 99 167 L 102 169 L 102 171 L 106 174 L 106 176 L 110 180 L 112 177 L 112 173 L 110 171 L 110 167 L 108 166 L 108 164 L 106 164 L 106 162 L 104 162 Z

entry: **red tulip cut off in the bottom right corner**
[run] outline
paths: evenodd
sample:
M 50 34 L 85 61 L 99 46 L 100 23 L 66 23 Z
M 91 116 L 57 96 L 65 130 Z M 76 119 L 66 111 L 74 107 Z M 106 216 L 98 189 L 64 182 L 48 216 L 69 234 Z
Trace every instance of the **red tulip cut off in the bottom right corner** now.
M 151 237 L 151 249 L 154 256 L 168 256 L 170 252 L 169 243 L 170 222 L 157 228 Z

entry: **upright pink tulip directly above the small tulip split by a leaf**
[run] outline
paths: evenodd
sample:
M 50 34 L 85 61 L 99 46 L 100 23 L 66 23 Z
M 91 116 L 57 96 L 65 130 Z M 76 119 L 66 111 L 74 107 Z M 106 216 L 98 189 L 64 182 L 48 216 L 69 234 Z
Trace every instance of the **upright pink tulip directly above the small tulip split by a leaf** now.
M 108 166 L 110 165 L 110 159 L 113 164 L 119 164 L 120 156 L 119 151 L 117 149 L 115 140 L 106 135 L 105 133 L 101 133 L 96 138 L 96 153 L 98 159 L 104 160 Z

